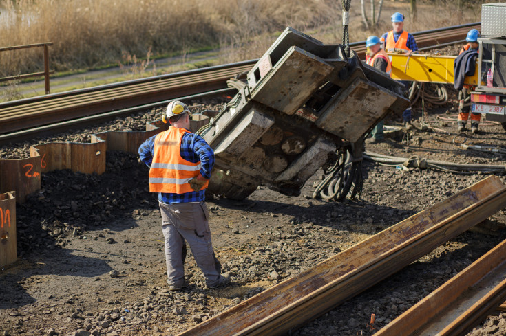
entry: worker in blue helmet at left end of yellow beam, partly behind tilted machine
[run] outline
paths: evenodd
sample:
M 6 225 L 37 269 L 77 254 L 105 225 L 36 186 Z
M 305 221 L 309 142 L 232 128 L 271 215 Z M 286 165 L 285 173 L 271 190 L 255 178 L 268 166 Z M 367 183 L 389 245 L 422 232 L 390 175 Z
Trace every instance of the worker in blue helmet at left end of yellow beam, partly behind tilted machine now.
M 392 72 L 390 58 L 385 50 L 381 49 L 381 41 L 378 36 L 369 36 L 366 41 L 367 54 L 366 63 L 375 67 L 379 71 L 386 72 L 389 76 Z M 383 126 L 385 122 L 381 120 L 375 128 L 372 128 L 370 137 L 366 139 L 366 144 L 376 144 L 383 141 Z

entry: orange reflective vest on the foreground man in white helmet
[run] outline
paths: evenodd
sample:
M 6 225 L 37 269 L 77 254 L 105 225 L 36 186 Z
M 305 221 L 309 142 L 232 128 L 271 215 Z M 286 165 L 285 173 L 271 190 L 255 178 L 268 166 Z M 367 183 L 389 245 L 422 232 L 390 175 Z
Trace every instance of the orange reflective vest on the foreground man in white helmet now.
M 200 174 L 200 161 L 193 163 L 181 157 L 181 139 L 189 131 L 171 127 L 155 137 L 155 150 L 149 169 L 149 191 L 170 194 L 193 192 L 188 181 Z M 207 188 L 206 182 L 202 189 Z M 201 190 L 202 190 L 201 189 Z

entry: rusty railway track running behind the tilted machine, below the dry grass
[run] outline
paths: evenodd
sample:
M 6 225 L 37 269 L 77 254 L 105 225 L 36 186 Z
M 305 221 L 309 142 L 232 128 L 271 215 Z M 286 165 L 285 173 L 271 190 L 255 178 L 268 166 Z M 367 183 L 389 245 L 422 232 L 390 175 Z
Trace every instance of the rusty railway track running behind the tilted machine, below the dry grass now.
M 428 49 L 460 42 L 465 38 L 468 30 L 479 29 L 479 27 L 480 23 L 468 23 L 415 32 L 413 35 L 417 39 L 419 48 Z M 359 54 L 359 57 L 365 57 L 365 41 L 351 43 L 350 47 Z M 226 89 L 226 80 L 249 71 L 256 62 L 257 60 L 246 60 L 240 63 L 4 102 L 0 104 L 0 144 L 47 133 L 52 127 L 41 127 L 45 125 L 65 122 L 63 125 L 70 127 L 74 122 L 82 124 L 83 117 L 103 114 L 103 117 L 97 120 L 104 120 L 107 119 L 107 115 L 111 117 L 118 115 L 118 113 L 111 113 L 112 111 Z M 88 122 L 92 120 L 94 119 L 90 118 Z

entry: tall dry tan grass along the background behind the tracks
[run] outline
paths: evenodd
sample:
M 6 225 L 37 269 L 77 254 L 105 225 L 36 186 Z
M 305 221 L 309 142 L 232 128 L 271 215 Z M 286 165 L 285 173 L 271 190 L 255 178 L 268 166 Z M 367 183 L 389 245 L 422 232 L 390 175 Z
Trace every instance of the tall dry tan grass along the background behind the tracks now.
M 476 5 L 458 16 L 447 2 L 419 3 L 415 31 L 479 21 Z M 391 12 L 408 3 L 386 1 L 375 33 L 390 28 Z M 56 71 L 118 64 L 126 55 L 145 57 L 222 47 L 223 62 L 260 56 L 286 25 L 325 42 L 341 40 L 341 8 L 335 0 L 0 0 L 0 46 L 52 41 Z M 359 1 L 351 8 L 350 40 L 363 30 Z M 478 18 L 478 19 L 476 19 Z M 40 71 L 42 51 L 0 53 L 0 76 Z

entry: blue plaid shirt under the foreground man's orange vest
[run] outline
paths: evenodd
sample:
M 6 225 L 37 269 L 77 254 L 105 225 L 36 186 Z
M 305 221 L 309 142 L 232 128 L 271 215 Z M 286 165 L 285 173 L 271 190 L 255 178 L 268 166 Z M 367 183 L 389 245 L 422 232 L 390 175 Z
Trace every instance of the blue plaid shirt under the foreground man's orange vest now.
M 151 167 L 151 162 L 153 161 L 153 155 L 155 153 L 155 137 L 156 135 L 150 137 L 139 147 L 140 160 L 148 167 Z M 202 137 L 193 133 L 185 133 L 182 135 L 180 154 L 183 159 L 193 164 L 200 161 L 202 165 L 200 174 L 206 179 L 211 178 L 211 169 L 213 169 L 214 166 L 214 151 Z M 158 192 L 158 201 L 166 204 L 201 202 L 204 201 L 205 194 L 205 189 L 198 192 L 186 192 L 185 194 Z

